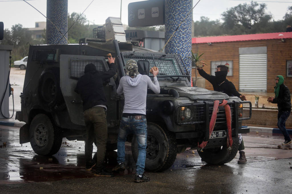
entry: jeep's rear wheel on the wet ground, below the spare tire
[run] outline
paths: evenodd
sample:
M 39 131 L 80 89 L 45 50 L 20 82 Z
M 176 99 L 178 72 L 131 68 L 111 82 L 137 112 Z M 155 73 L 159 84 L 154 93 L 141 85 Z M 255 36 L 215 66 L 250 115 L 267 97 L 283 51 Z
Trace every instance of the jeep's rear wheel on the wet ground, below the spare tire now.
M 32 119 L 29 137 L 34 152 L 42 156 L 57 153 L 62 144 L 62 131 L 45 114 L 38 114 Z

